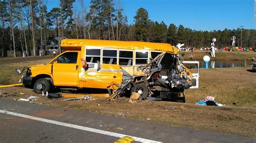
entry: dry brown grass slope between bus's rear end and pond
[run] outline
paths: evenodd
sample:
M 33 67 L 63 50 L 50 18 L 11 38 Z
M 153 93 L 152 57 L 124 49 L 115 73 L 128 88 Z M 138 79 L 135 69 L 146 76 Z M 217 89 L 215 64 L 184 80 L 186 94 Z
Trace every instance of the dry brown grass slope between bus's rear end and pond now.
M 250 67 L 200 69 L 199 88 L 186 90 L 187 103 L 214 96 L 223 104 L 256 105 L 256 73 Z

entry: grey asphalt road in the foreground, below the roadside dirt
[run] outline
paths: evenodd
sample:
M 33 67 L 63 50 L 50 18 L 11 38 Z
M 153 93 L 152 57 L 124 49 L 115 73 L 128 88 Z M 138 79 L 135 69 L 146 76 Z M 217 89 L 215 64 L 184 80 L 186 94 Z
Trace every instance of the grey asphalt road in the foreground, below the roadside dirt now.
M 255 138 L 0 98 L 0 142 L 113 142 L 119 139 L 118 133 L 161 142 L 256 142 Z

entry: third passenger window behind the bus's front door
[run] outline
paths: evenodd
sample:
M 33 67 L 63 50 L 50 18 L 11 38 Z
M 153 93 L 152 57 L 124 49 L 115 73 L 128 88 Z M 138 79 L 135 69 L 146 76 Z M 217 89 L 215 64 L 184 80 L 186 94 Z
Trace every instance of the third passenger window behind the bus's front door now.
M 119 50 L 119 65 L 132 66 L 133 51 Z

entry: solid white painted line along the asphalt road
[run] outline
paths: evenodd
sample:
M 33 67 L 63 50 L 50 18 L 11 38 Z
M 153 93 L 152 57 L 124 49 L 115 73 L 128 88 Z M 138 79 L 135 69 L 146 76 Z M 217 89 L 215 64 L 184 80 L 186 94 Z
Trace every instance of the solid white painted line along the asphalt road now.
M 125 134 L 120 134 L 120 133 L 114 133 L 114 132 L 109 132 L 109 131 L 104 131 L 104 130 L 98 130 L 96 128 L 91 128 L 91 127 L 84 127 L 84 126 L 64 123 L 64 122 L 56 121 L 56 120 L 49 120 L 49 119 L 44 119 L 44 118 L 39 118 L 39 117 L 33 117 L 33 116 L 24 115 L 24 114 L 21 114 L 21 113 L 10 112 L 10 111 L 0 110 L 0 113 L 5 113 L 5 114 L 8 114 L 8 115 L 28 118 L 28 119 L 31 119 L 31 120 L 43 121 L 45 123 L 50 123 L 50 124 L 55 124 L 55 125 L 60 125 L 60 126 L 65 126 L 65 127 L 76 128 L 78 130 L 83 130 L 83 131 L 88 131 L 88 132 L 93 132 L 93 133 L 110 135 L 112 137 L 117 137 L 117 138 L 123 138 L 125 136 L 130 136 L 130 135 L 125 135 Z M 132 137 L 132 136 L 130 136 L 130 137 Z M 135 141 L 139 141 L 139 142 L 159 142 L 159 141 L 155 141 L 155 140 L 148 140 L 148 139 L 138 138 L 138 137 L 132 137 L 132 138 L 134 138 Z

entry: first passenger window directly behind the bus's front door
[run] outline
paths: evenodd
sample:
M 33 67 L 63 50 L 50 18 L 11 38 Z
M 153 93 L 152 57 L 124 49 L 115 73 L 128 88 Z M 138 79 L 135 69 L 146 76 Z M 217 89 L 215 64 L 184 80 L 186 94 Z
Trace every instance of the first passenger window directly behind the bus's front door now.
M 100 49 L 89 49 L 86 48 L 86 61 L 91 63 L 100 62 Z

